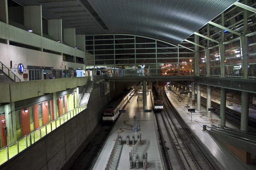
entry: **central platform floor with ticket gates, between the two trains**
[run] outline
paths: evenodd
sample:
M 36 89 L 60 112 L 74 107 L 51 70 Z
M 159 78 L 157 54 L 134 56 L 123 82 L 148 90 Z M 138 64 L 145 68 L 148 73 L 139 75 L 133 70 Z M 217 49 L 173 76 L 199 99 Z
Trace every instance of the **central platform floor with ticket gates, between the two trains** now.
M 111 170 L 116 169 L 116 166 L 118 166 L 117 170 L 130 169 L 129 153 L 132 150 L 133 145 L 131 142 L 130 145 L 126 144 L 126 136 L 130 135 L 132 137 L 132 135 L 135 135 L 137 140 L 137 135 L 140 134 L 142 144 L 140 145 L 137 153 L 135 154 L 139 154 L 140 156 L 145 153 L 148 154 L 148 170 L 163 170 L 160 157 L 160 149 L 157 141 L 157 130 L 154 125 L 154 113 L 143 113 L 143 102 L 139 102 L 138 107 L 137 97 L 137 95 L 134 95 L 131 98 L 130 102 L 128 102 L 124 108 L 124 110 L 126 110 L 126 113 L 121 113 L 121 115 L 117 119 L 104 147 L 102 148 L 98 159 L 94 163 L 93 170 L 105 170 L 118 134 L 122 135 L 123 139 L 122 151 L 119 160 L 116 160 L 118 159 L 116 158 L 116 156 L 114 157 Z M 152 109 L 150 93 L 147 96 L 147 108 Z M 132 130 L 132 126 L 135 122 L 138 122 L 140 126 L 137 132 L 134 132 L 134 130 Z M 120 148 L 118 147 L 117 149 L 117 153 L 119 153 Z M 133 169 L 136 169 L 135 161 L 133 163 Z M 143 169 L 142 164 L 140 164 L 139 169 Z

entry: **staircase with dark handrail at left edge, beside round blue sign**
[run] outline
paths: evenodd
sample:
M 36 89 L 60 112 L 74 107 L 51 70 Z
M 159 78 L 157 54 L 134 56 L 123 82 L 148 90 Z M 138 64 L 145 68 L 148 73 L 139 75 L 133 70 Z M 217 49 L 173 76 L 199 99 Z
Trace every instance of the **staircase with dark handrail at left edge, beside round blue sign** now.
M 0 83 L 1 82 L 20 82 L 19 77 L 17 77 L 2 62 L 0 62 Z

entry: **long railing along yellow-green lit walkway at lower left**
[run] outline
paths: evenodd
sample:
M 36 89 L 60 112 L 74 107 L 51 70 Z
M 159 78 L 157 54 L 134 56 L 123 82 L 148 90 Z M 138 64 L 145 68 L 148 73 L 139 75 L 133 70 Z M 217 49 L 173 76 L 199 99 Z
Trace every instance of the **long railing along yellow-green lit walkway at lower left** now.
M 74 108 L 73 110 L 63 114 L 62 116 L 52 120 L 51 122 L 47 123 L 46 125 L 39 127 L 32 133 L 29 133 L 26 136 L 23 136 L 21 139 L 3 147 L 0 150 L 0 165 L 17 155 L 18 153 L 22 152 L 26 148 L 30 147 L 32 144 L 40 140 L 42 137 L 46 136 L 47 134 L 51 133 L 53 130 L 79 114 L 81 111 L 84 111 L 87 108 L 87 103 L 83 105 L 79 105 L 78 107 Z

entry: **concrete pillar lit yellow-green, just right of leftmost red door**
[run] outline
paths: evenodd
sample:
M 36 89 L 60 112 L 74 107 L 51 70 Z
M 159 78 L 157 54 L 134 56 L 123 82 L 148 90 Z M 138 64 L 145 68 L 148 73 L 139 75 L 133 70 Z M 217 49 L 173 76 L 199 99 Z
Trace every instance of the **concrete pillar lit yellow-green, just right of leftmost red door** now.
M 7 128 L 7 145 L 17 140 L 16 136 L 16 120 L 15 120 L 15 105 L 12 102 L 4 106 L 6 128 Z

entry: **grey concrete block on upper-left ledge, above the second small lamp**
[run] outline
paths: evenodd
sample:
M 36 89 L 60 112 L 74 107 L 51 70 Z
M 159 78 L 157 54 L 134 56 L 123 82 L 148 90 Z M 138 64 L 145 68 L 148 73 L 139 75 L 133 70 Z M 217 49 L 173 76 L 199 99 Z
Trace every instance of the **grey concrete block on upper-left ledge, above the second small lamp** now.
M 48 35 L 52 37 L 55 41 L 60 41 L 62 43 L 62 20 L 47 20 L 47 23 Z

